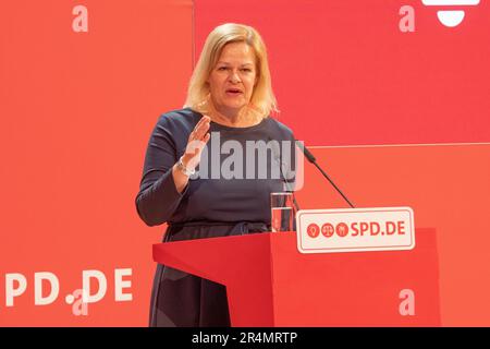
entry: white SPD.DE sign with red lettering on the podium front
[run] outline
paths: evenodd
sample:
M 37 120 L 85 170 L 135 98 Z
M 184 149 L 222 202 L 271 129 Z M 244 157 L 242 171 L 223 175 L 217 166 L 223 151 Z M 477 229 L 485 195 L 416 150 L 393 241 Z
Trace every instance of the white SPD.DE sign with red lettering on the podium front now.
M 412 250 L 411 207 L 302 209 L 296 214 L 301 253 Z

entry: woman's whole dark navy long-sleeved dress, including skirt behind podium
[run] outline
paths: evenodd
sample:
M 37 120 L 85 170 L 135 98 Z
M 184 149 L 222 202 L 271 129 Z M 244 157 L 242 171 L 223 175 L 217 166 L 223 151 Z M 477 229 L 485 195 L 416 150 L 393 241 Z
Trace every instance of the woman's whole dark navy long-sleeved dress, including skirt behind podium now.
M 148 226 L 168 222 L 163 241 L 270 231 L 270 193 L 284 191 L 284 181 L 291 176 L 281 171 L 278 178 L 272 170 L 268 170 L 265 177 L 266 163 L 255 159 L 253 164 L 253 157 L 243 161 L 243 168 L 237 166 L 238 163 L 230 166 L 230 156 L 235 153 L 233 146 L 241 145 L 245 158 L 253 152 L 247 146 L 254 142 L 289 141 L 281 143 L 279 153 L 278 148 L 267 152 L 267 166 L 271 169 L 275 163 L 286 164 L 281 168 L 294 170 L 292 131 L 272 118 L 248 128 L 231 128 L 211 122 L 211 140 L 206 147 L 208 155 L 206 160 L 203 157 L 196 168 L 200 177 L 192 177 L 184 191 L 179 193 L 171 168 L 184 154 L 189 133 L 201 117 L 186 108 L 164 113 L 158 120 L 148 143 L 143 179 L 136 196 L 139 217 Z M 220 148 L 219 145 L 223 144 L 232 145 L 233 151 L 230 147 L 223 147 L 224 151 Z M 284 152 L 284 144 L 291 144 L 290 152 Z M 218 157 L 217 149 L 221 149 Z M 228 163 L 224 163 L 226 158 Z M 255 166 L 247 172 L 250 164 Z M 223 166 L 223 173 L 212 172 L 220 166 Z M 236 176 L 230 178 L 224 169 L 231 169 Z M 230 326 L 225 288 L 158 264 L 149 325 Z

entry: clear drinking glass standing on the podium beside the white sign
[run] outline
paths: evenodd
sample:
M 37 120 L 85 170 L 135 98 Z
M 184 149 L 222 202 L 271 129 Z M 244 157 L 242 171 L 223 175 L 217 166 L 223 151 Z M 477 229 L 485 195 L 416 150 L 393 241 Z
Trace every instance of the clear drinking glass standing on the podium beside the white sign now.
M 270 193 L 271 229 L 278 231 L 293 231 L 295 215 L 293 193 Z

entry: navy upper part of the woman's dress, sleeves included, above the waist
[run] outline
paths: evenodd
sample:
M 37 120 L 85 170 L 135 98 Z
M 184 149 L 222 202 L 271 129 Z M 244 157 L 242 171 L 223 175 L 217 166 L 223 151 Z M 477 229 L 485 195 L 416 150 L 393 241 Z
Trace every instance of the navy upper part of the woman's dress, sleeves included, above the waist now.
M 140 190 L 136 197 L 137 212 L 140 218 L 149 226 L 160 225 L 164 221 L 203 220 L 262 221 L 269 224 L 270 193 L 284 191 L 285 174 L 282 173 L 281 178 L 272 178 L 272 170 L 268 170 L 267 177 L 260 178 L 260 174 L 265 172 L 264 168 L 260 167 L 260 161 L 256 160 L 254 174 L 247 176 L 245 167 L 249 163 L 244 160 L 241 178 L 226 179 L 223 178 L 223 173 L 218 173 L 219 178 L 212 179 L 210 178 L 212 170 L 219 169 L 225 158 L 230 156 L 220 152 L 219 159 L 217 159 L 216 148 L 226 141 L 236 141 L 246 153 L 244 154 L 245 157 L 249 155 L 249 152 L 246 152 L 247 141 L 248 143 L 250 141 L 289 141 L 286 143 L 291 144 L 291 149 L 286 161 L 291 163 L 291 158 L 294 156 L 293 132 L 272 118 L 266 118 L 260 123 L 248 128 L 231 128 L 211 121 L 209 129 L 211 140 L 206 146 L 208 161 L 203 158 L 200 165 L 196 168 L 199 174 L 204 172 L 199 168 L 207 166 L 207 178 L 193 179 L 192 177 L 185 190 L 179 193 L 175 189 L 171 168 L 184 154 L 189 133 L 201 117 L 203 115 L 187 108 L 164 113 L 158 120 L 148 143 Z M 219 143 L 217 143 L 217 140 L 219 140 Z M 212 142 L 215 142 L 212 144 L 215 151 L 210 148 Z M 280 147 L 275 149 L 282 148 L 283 144 L 281 143 Z M 278 154 L 273 153 L 274 151 L 267 153 L 269 169 L 274 166 L 274 157 L 277 158 L 278 154 L 281 155 L 283 165 L 282 155 L 287 155 L 287 152 L 281 153 L 281 151 Z M 277 164 L 280 163 L 277 161 Z M 287 168 L 294 168 L 294 164 L 289 165 Z M 260 170 L 261 173 L 259 173 Z

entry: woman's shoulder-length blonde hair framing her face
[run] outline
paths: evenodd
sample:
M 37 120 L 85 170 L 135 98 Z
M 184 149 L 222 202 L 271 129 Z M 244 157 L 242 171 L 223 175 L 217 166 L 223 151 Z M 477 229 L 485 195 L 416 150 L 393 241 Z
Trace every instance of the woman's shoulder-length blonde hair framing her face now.
M 199 112 L 209 112 L 212 108 L 209 105 L 210 93 L 207 80 L 224 46 L 231 43 L 245 43 L 255 52 L 257 83 L 249 103 L 252 110 L 258 112 L 262 118 L 267 118 L 271 112 L 279 112 L 272 92 L 266 45 L 258 32 L 252 26 L 235 23 L 219 25 L 208 35 L 191 77 L 184 107 L 189 107 Z

